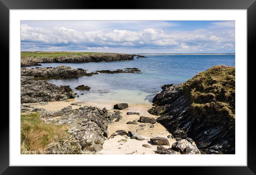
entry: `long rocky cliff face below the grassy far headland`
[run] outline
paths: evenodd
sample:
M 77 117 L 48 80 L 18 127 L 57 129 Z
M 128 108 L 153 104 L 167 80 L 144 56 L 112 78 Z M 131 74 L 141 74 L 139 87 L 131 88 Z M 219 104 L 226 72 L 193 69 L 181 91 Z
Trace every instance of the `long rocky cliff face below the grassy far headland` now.
M 105 53 L 99 55 L 83 55 L 83 56 L 59 56 L 59 57 L 21 57 L 22 63 L 89 63 L 89 62 L 110 62 L 110 61 L 127 61 L 133 60 L 134 55 Z

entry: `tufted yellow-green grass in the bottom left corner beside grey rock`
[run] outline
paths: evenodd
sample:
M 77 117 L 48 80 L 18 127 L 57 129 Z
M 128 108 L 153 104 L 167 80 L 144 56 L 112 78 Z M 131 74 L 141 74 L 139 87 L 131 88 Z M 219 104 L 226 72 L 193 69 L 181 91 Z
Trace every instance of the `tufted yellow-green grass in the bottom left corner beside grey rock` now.
M 39 113 L 21 115 L 21 154 L 23 151 L 44 151 L 53 137 L 67 133 L 67 125 L 45 124 Z

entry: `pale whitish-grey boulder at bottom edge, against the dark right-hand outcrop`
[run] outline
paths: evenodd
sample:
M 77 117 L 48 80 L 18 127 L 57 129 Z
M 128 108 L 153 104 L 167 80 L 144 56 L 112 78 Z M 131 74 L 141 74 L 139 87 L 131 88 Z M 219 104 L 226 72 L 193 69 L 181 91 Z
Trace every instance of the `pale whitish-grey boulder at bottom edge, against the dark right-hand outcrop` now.
M 172 149 L 181 154 L 200 154 L 196 145 L 192 145 L 186 139 L 179 140 L 172 144 Z

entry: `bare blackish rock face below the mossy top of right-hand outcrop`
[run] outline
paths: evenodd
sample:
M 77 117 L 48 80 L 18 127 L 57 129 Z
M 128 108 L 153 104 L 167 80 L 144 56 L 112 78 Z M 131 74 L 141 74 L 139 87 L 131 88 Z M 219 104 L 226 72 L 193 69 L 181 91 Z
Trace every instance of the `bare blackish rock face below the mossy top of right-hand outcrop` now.
M 181 84 L 163 86 L 163 91 L 153 98 L 155 106 L 148 110 L 154 115 L 161 115 L 157 122 L 161 123 L 176 141 L 192 138 L 198 148 L 207 153 L 213 145 L 222 145 L 217 150 L 223 154 L 235 154 L 234 127 L 229 129 L 230 118 L 218 113 L 208 113 L 213 109 L 203 109 L 205 112 L 193 114 L 189 98 L 179 89 Z M 211 105 L 211 103 L 209 103 Z M 214 108 L 214 107 L 211 107 Z

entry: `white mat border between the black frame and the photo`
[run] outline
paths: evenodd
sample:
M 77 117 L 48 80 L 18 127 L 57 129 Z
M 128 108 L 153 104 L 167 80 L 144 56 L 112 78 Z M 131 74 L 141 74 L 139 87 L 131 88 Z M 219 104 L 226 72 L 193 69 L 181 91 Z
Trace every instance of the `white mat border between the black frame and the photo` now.
M 20 155 L 20 20 L 236 20 L 236 154 Z M 10 10 L 10 166 L 247 166 L 246 21 L 247 10 Z

